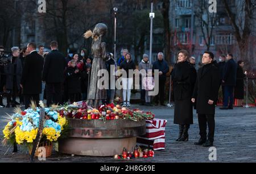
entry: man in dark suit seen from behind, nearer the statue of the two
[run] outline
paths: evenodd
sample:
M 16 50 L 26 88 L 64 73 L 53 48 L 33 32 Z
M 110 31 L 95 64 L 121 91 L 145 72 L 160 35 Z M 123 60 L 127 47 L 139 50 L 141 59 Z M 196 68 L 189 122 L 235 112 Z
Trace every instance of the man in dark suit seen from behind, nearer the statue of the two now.
M 47 106 L 61 103 L 61 85 L 64 81 L 64 70 L 67 66 L 64 55 L 57 50 L 58 43 L 51 42 L 51 52 L 46 56 L 43 69 L 43 81 L 46 82 Z

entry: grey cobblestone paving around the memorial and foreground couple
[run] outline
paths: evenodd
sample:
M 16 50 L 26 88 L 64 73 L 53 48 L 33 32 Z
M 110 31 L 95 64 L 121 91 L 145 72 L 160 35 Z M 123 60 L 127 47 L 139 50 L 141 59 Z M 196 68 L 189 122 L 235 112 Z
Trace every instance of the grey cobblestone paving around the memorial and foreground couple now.
M 194 125 L 189 129 L 188 142 L 175 142 L 178 134 L 178 125 L 173 124 L 174 107 L 164 106 L 138 106 L 133 108 L 151 110 L 156 118 L 167 119 L 166 126 L 166 150 L 155 151 L 154 158 L 135 159 L 129 162 L 135 163 L 176 163 L 176 162 L 256 162 L 256 107 L 236 107 L 234 110 L 220 110 L 216 108 L 216 131 L 214 147 L 217 149 L 217 160 L 210 161 L 209 148 L 195 146 L 193 143 L 199 139 L 199 126 L 196 113 L 194 113 Z M 6 113 L 12 113 L 12 109 L 0 109 L 0 118 Z M 5 123 L 0 123 L 0 130 Z M 4 155 L 8 147 L 0 145 L 0 162 L 28 162 L 28 151 L 19 148 L 18 154 L 12 154 L 13 147 Z M 53 152 L 46 162 L 118 162 L 126 163 L 127 160 L 114 160 L 111 157 L 71 156 Z

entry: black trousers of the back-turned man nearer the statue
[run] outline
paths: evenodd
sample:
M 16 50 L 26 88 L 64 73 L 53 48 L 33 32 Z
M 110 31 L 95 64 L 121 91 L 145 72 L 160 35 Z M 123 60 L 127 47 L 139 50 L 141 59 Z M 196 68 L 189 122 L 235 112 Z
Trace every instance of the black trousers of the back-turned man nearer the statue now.
M 61 104 L 61 82 L 46 84 L 46 99 L 47 107 L 50 107 L 52 103 Z

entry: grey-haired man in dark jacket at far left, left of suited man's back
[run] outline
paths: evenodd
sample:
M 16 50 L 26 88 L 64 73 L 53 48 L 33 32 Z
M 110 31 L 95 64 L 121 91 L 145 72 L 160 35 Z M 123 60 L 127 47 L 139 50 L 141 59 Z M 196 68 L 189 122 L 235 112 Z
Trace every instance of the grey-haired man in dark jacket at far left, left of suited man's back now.
M 6 107 L 10 107 L 10 103 L 13 107 L 19 105 L 16 102 L 16 95 L 20 90 L 20 79 L 22 76 L 22 62 L 19 57 L 19 47 L 11 48 L 11 52 L 13 55 L 11 56 L 11 60 L 8 64 L 5 65 L 4 70 L 6 74 L 6 90 L 9 90 L 10 93 L 7 95 L 7 105 Z M 11 100 L 12 97 L 12 100 Z

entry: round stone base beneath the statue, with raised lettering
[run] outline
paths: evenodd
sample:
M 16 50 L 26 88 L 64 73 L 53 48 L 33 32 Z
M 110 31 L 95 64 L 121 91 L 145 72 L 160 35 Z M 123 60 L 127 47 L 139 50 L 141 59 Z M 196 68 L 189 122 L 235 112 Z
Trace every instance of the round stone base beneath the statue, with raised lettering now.
M 137 136 L 146 134 L 146 120 L 68 119 L 69 137 L 59 141 L 59 152 L 85 156 L 114 156 L 122 154 L 123 147 L 133 151 Z

